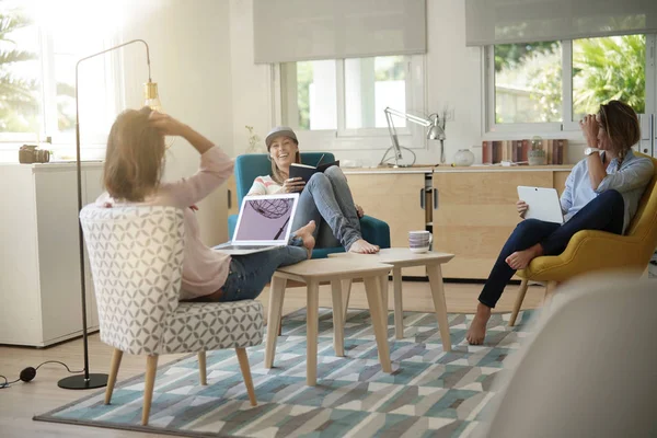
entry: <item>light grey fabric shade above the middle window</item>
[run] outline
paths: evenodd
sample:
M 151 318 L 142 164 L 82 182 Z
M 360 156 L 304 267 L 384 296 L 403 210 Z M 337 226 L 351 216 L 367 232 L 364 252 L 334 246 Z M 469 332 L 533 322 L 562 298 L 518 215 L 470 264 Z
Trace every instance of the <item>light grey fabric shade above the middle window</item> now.
M 254 0 L 256 64 L 423 54 L 426 0 Z

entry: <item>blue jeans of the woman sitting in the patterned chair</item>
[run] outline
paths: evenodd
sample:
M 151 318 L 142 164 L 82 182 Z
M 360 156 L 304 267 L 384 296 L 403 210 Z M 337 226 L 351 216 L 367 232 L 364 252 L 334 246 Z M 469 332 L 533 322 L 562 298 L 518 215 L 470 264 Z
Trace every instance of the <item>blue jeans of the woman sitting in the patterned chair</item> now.
M 260 253 L 233 255 L 219 301 L 253 300 L 261 295 L 276 269 L 308 258 L 300 239 L 292 238 L 290 244 Z

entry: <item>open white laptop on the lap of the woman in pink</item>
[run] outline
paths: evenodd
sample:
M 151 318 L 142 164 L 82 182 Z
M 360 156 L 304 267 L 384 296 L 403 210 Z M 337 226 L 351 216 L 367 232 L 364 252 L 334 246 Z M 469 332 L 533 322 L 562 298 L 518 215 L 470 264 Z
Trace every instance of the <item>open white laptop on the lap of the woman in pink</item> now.
M 214 250 L 242 255 L 287 245 L 298 203 L 298 193 L 245 196 L 232 241 Z

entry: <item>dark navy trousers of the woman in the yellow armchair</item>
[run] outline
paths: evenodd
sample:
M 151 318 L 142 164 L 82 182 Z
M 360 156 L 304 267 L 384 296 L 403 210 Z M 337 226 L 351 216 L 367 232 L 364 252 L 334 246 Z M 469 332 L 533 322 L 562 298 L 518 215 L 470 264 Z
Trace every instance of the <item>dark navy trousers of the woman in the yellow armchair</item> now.
M 516 269 L 505 262 L 516 251 L 523 251 L 540 243 L 544 255 L 558 255 L 564 252 L 570 238 L 578 231 L 600 230 L 621 234 L 623 216 L 623 196 L 616 191 L 607 191 L 588 203 L 564 224 L 537 219 L 526 219 L 518 223 L 493 265 L 479 297 L 480 302 L 495 308 L 507 283 L 516 274 Z

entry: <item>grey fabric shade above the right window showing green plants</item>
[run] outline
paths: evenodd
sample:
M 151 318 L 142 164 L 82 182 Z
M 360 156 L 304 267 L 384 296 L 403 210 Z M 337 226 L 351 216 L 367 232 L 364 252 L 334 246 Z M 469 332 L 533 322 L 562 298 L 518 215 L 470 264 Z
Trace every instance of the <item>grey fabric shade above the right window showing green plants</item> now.
M 465 0 L 468 46 L 657 32 L 657 0 Z

